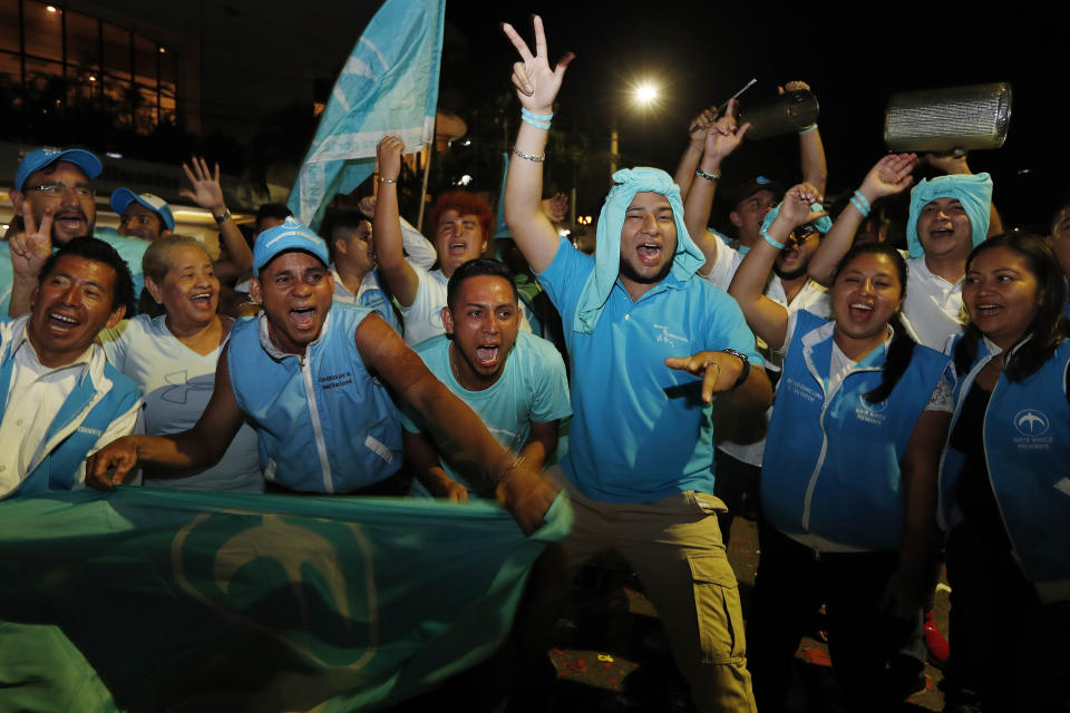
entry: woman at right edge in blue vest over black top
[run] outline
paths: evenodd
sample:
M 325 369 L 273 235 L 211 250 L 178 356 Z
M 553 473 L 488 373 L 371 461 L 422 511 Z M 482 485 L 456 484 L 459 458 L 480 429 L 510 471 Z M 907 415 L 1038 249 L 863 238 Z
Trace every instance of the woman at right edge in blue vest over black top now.
M 1051 248 L 1001 235 L 966 262 L 970 316 L 940 470 L 954 710 L 1070 703 L 1070 324 Z M 945 709 L 947 710 L 947 709 Z

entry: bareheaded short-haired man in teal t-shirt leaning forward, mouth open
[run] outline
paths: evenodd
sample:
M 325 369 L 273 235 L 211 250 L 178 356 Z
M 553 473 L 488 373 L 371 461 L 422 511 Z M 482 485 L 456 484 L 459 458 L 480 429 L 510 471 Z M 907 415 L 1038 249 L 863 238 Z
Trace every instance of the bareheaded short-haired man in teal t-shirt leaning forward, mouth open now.
M 498 443 L 541 470 L 557 448 L 560 419 L 572 413 L 561 353 L 519 332 L 513 273 L 496 260 L 473 260 L 449 279 L 442 307 L 446 334 L 417 353 L 439 381 L 471 407 Z M 466 501 L 494 496 L 475 463 L 440 429 L 402 412 L 414 492 Z

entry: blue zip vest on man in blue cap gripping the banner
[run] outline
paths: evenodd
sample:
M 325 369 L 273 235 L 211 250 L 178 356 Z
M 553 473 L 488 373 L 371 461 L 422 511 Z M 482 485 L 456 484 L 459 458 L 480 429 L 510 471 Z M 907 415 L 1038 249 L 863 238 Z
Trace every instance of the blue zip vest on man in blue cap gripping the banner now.
M 269 480 L 305 492 L 351 492 L 401 467 L 398 410 L 353 343 L 369 314 L 334 304 L 303 359 L 273 348 L 269 353 L 261 343 L 263 315 L 231 330 L 231 385 L 256 429 Z

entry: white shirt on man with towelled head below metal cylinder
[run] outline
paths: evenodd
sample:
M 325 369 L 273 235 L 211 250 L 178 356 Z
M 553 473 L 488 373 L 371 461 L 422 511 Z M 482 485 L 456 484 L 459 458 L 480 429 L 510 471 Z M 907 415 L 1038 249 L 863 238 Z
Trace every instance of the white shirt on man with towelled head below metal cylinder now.
M 925 264 L 925 256 L 906 261 L 903 323 L 918 344 L 941 351 L 949 336 L 962 332 L 962 284 L 947 282 Z

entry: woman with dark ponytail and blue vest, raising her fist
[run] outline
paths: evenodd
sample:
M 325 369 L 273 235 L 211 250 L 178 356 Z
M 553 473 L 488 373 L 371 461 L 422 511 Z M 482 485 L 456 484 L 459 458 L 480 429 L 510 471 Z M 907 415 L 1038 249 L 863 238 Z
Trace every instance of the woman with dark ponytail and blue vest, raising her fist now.
M 787 350 L 761 469 L 748 668 L 759 710 L 781 710 L 795 651 L 824 603 L 847 709 L 879 711 L 896 697 L 887 666 L 920 624 L 950 370 L 899 323 L 906 264 L 884 244 L 840 262 L 831 321 L 789 315 L 762 295 L 795 228 L 824 215 L 816 202 L 805 184 L 785 195 L 729 291 L 755 334 Z

